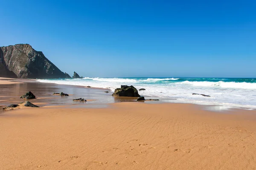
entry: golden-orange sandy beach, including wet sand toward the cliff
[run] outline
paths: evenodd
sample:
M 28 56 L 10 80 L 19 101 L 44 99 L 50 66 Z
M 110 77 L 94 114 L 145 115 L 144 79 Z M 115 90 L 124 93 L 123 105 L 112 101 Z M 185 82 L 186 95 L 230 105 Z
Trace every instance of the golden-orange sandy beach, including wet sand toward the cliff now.
M 38 99 L 31 102 L 43 106 L 0 113 L 1 170 L 256 169 L 256 111 L 119 100 L 83 107 L 90 102 L 73 104 L 50 95 L 61 89 L 73 92 L 72 99 L 79 91 L 98 101 L 112 96 L 100 89 L 1 81 L 6 84 L 0 105 L 19 102 L 33 89 Z

